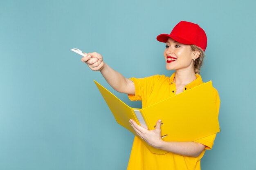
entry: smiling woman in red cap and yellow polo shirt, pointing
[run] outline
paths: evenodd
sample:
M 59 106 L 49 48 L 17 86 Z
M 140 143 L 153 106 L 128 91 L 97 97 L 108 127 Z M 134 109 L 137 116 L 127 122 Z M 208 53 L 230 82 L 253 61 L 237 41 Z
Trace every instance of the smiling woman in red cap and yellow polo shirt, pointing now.
M 93 71 L 100 71 L 110 86 L 120 93 L 128 94 L 130 100 L 142 100 L 143 108 L 203 83 L 199 73 L 207 47 L 207 36 L 198 24 L 181 21 L 170 34 L 160 34 L 157 40 L 166 43 L 166 69 L 175 70 L 171 77 L 154 75 L 127 79 L 104 63 L 99 53 L 88 53 L 88 57 L 83 57 L 81 61 Z M 215 88 L 213 92 L 219 110 L 219 95 Z M 170 104 L 170 110 L 172 107 Z M 135 136 L 128 170 L 200 170 L 200 159 L 205 150 L 212 148 L 216 137 L 214 134 L 197 141 L 163 141 L 161 120 L 157 121 L 155 130 L 147 130 L 132 119 L 130 124 L 140 138 Z M 141 140 L 168 153 L 154 154 Z

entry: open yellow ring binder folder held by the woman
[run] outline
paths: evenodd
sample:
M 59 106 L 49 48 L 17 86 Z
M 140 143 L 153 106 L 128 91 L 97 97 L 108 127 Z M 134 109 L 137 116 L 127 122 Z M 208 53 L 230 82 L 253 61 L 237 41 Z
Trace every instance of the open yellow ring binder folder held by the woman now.
M 148 130 L 155 129 L 157 120 L 161 119 L 164 141 L 195 141 L 220 132 L 211 81 L 142 109 L 129 107 L 101 84 L 94 82 L 117 123 L 135 135 L 129 119 Z M 153 153 L 163 155 L 168 152 L 141 141 Z

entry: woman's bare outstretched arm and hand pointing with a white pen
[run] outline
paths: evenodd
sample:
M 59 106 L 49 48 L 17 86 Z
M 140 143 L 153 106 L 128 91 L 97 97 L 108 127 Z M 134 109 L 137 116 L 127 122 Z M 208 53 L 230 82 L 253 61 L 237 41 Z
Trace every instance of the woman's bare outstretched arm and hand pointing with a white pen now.
M 104 63 L 103 57 L 99 53 L 88 53 L 88 56 L 83 57 L 81 61 L 85 62 L 93 71 L 100 71 L 108 84 L 116 91 L 130 95 L 135 94 L 134 83 Z

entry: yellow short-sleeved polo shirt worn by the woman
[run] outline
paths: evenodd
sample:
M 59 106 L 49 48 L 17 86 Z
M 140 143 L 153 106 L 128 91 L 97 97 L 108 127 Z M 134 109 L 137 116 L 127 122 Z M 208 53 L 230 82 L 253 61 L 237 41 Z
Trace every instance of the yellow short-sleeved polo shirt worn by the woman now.
M 171 77 L 165 75 L 154 75 L 145 78 L 131 78 L 135 84 L 135 95 L 128 95 L 132 101 L 141 100 L 142 108 L 160 102 L 175 95 L 176 86 L 173 82 L 175 73 Z M 202 78 L 196 74 L 197 79 L 184 86 L 184 91 L 202 84 Z M 220 98 L 218 91 L 214 88 L 216 108 L 219 110 Z M 196 140 L 210 150 L 216 134 Z M 164 155 L 154 154 L 141 142 L 139 137 L 134 138 L 130 160 L 127 170 L 200 170 L 200 159 L 205 150 L 198 157 L 187 157 L 168 152 Z

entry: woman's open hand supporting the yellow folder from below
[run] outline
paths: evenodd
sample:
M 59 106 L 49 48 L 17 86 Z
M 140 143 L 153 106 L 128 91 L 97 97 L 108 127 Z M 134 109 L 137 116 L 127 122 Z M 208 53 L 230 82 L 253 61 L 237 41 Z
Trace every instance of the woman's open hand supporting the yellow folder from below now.
M 161 137 L 161 120 L 157 121 L 157 126 L 154 130 L 147 130 L 142 126 L 139 126 L 134 120 L 130 119 L 130 124 L 132 128 L 135 130 L 137 135 L 141 137 L 144 141 L 146 141 L 149 145 L 159 148 L 162 145 L 162 137 Z

